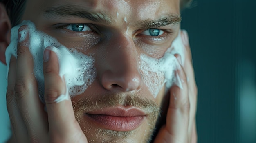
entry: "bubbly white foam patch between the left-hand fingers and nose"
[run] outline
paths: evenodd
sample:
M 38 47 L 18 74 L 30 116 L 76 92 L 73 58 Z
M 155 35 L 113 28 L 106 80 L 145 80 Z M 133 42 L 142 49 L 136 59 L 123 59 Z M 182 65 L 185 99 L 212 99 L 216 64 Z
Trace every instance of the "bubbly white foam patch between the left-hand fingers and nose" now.
M 68 56 L 59 58 L 63 61 L 60 64 L 60 75 L 65 75 L 65 81 L 69 88 L 70 96 L 82 94 L 96 78 L 95 59 L 92 56 L 84 55 L 76 49 L 69 49 L 70 60 Z M 63 72 L 63 73 L 61 73 Z

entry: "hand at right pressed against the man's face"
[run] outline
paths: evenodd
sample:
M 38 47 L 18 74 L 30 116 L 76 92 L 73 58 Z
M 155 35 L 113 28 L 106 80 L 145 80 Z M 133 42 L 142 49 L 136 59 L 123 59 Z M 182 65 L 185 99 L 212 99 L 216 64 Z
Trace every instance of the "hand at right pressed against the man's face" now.
M 197 104 L 197 87 L 192 66 L 189 38 L 182 31 L 182 42 L 186 47 L 184 66 L 177 70 L 183 89 L 173 86 L 170 89 L 170 102 L 166 124 L 160 129 L 155 143 L 196 143 L 197 132 L 195 112 Z M 180 56 L 175 55 L 181 64 Z

